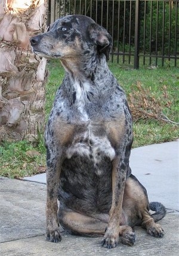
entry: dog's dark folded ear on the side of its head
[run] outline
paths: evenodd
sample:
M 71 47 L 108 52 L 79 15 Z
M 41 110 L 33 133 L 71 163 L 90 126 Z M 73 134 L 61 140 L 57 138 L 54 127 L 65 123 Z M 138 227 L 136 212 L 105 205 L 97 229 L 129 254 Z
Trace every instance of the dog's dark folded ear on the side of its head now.
M 90 39 L 97 45 L 97 49 L 100 53 L 106 55 L 107 61 L 109 60 L 109 53 L 112 47 L 112 37 L 102 26 L 97 23 L 92 23 L 88 27 L 90 33 Z

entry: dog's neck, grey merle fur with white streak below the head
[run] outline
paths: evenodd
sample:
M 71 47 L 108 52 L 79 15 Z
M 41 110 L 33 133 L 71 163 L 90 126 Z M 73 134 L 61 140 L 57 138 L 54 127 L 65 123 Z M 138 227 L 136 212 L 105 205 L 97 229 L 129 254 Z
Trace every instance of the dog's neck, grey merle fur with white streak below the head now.
M 79 112 L 85 113 L 85 104 L 93 100 L 109 98 L 114 78 L 107 66 L 106 56 L 97 58 L 92 65 L 88 62 L 83 64 L 82 61 L 77 64 L 73 59 L 61 60 L 61 64 L 66 70 L 66 80 L 69 81 L 67 93 L 72 95 L 71 101 L 78 106 Z M 85 121 L 88 120 L 86 116 L 84 118 Z

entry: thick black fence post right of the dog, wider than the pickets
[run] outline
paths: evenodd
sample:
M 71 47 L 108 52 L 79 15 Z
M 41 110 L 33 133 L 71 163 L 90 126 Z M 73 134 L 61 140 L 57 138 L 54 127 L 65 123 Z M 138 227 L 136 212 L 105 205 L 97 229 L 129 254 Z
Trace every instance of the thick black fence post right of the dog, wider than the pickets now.
M 140 41 L 140 0 L 135 1 L 135 40 L 134 40 L 134 68 L 139 67 L 139 44 Z

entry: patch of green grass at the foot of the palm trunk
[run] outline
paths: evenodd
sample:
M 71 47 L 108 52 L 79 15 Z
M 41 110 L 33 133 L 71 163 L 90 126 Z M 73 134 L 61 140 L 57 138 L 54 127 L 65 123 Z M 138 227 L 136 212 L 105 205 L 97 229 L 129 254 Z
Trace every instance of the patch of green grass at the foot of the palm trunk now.
M 34 148 L 25 140 L 17 143 L 2 143 L 0 161 L 0 176 L 18 178 L 42 173 L 45 170 L 45 152 Z

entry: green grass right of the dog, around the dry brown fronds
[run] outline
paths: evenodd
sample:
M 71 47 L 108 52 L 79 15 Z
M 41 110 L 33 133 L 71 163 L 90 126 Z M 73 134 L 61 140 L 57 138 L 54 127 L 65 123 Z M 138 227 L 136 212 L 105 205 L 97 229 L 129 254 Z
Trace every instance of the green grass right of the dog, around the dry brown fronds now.
M 140 68 L 134 70 L 116 64 L 110 64 L 109 66 L 127 95 L 136 87 L 137 82 L 140 82 L 144 88 L 151 89 L 152 96 L 162 106 L 162 112 L 171 121 L 179 122 L 178 68 Z M 179 137 L 177 125 L 167 124 L 155 119 L 134 122 L 133 128 L 133 147 L 172 141 Z

